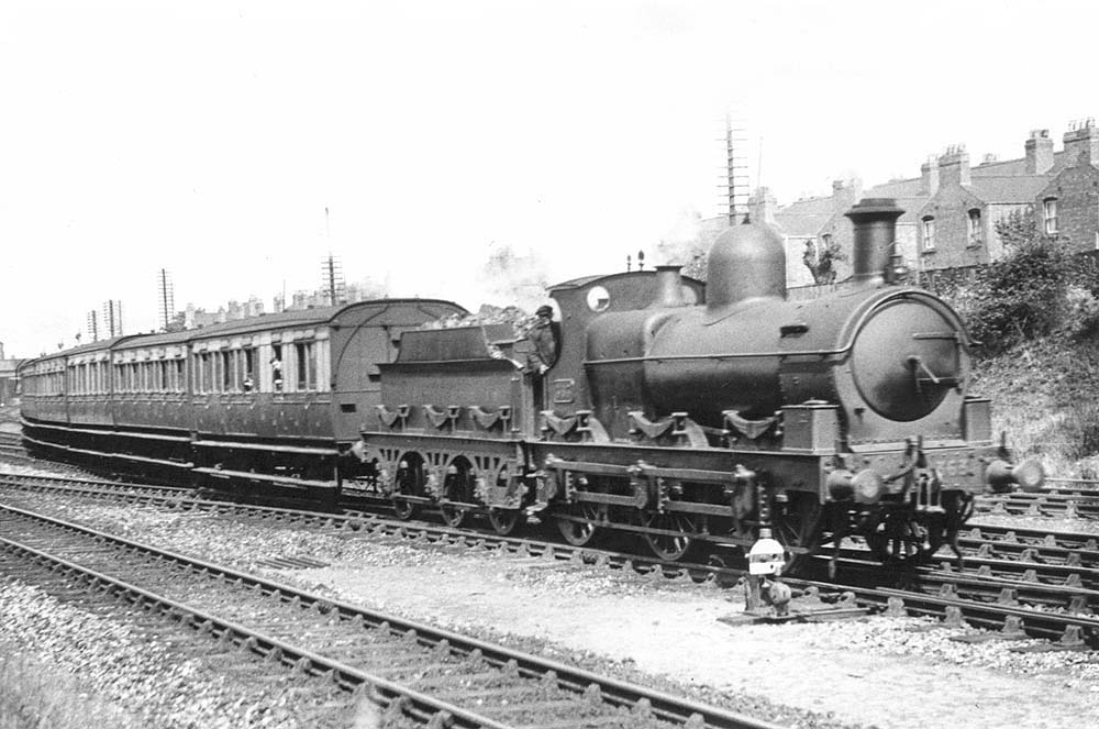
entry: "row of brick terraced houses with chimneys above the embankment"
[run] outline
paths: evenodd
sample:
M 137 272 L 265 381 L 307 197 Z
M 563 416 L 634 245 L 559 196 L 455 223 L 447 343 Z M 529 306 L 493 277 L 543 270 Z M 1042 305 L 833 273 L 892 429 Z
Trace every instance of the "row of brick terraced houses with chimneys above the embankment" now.
M 974 165 L 965 146 L 930 157 L 920 176 L 864 189 L 857 180 L 833 183 L 828 197 L 778 207 L 766 188 L 750 201 L 755 220 L 781 232 L 787 245 L 787 285 L 842 281 L 851 275 L 852 227 L 843 213 L 861 198 L 895 198 L 904 210 L 897 242 L 915 272 L 973 266 L 1003 255 L 996 222 L 1033 209 L 1037 232 L 1074 252 L 1099 248 L 1099 130 L 1094 119 L 1069 124 L 1062 148 L 1048 130 L 1023 141 L 1023 155 L 1000 161 L 985 155 Z M 824 280 L 806 265 L 829 248 L 841 253 Z

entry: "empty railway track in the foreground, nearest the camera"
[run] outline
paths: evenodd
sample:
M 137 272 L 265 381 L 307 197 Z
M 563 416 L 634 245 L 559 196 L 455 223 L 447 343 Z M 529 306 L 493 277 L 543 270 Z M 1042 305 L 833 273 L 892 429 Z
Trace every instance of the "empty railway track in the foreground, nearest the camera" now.
M 776 726 L 7 505 L 0 533 L 9 574 L 48 565 L 64 584 L 140 605 L 273 669 L 365 692 L 390 719 L 492 729 Z

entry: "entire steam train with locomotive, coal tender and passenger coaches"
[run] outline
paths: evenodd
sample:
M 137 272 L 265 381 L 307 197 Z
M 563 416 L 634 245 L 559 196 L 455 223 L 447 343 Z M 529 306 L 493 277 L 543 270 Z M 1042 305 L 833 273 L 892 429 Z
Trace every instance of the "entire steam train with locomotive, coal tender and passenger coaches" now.
M 782 241 L 751 223 L 714 242 L 704 285 L 676 266 L 559 284 L 544 374 L 511 325 L 422 328 L 462 310 L 420 300 L 58 353 L 23 365 L 24 433 L 233 488 L 355 486 L 454 527 L 508 534 L 536 515 L 575 545 L 633 533 L 667 560 L 764 530 L 793 563 L 847 535 L 923 560 L 955 543 L 976 495 L 1044 474 L 1012 464 L 990 401 L 966 393 L 958 316 L 902 284 L 901 212 L 856 205 L 854 276 L 812 300 L 786 299 Z M 285 387 L 254 372 L 269 356 Z M 88 363 L 103 372 L 81 394 Z

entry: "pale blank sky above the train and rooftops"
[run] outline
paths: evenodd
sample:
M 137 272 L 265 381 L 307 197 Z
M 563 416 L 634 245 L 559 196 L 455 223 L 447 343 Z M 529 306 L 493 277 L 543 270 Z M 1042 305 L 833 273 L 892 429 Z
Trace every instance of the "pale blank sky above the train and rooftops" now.
M 359 0 L 0 3 L 0 342 L 155 330 L 348 281 L 492 299 L 656 259 L 723 212 L 724 119 L 780 205 L 965 144 L 1061 148 L 1099 115 L 1086 2 Z M 328 213 L 325 212 L 328 210 Z M 492 299 L 492 300 L 490 300 Z

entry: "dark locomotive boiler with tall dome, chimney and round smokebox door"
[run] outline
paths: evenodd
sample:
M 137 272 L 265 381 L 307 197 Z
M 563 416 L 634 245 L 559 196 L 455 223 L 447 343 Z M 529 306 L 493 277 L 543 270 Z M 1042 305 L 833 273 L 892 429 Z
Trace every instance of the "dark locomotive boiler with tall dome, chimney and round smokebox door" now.
M 891 227 L 879 223 L 900 213 L 873 200 L 857 206 L 848 213 L 856 250 L 888 251 Z M 586 368 L 603 422 L 621 420 L 628 399 L 631 409 L 687 412 L 751 441 L 784 406 L 819 401 L 839 406 L 847 446 L 967 439 L 969 340 L 945 302 L 886 286 L 880 253 L 856 261 L 843 294 L 787 301 L 778 235 L 755 225 L 731 233 L 711 252 L 704 306 L 592 322 Z

